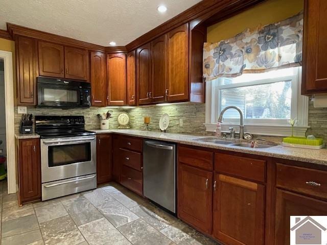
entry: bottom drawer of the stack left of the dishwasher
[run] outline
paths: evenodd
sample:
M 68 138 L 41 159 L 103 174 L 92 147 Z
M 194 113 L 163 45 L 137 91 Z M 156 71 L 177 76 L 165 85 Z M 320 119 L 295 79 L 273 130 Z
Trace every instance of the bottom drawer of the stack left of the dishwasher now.
M 143 195 L 143 175 L 131 167 L 122 166 L 121 184 L 136 193 Z

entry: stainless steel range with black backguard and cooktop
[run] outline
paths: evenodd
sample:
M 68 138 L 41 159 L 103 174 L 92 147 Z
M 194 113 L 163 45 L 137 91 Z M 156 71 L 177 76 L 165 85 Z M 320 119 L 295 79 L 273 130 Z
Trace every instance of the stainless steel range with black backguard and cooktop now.
M 42 201 L 97 187 L 96 134 L 84 116 L 35 116 L 41 138 Z

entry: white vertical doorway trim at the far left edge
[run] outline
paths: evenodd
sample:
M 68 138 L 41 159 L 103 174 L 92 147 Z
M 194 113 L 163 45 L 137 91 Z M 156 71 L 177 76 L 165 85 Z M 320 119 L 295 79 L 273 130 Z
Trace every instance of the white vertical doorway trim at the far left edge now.
M 6 143 L 7 143 L 7 178 L 8 193 L 15 193 L 16 188 L 16 156 L 15 156 L 15 108 L 12 52 L 0 51 L 4 60 L 5 104 L 6 104 Z

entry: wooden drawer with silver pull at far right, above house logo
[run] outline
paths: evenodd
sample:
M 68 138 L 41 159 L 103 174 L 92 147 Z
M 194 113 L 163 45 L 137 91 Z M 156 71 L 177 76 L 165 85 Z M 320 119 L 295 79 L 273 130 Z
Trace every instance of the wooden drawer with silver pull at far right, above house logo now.
M 277 187 L 327 199 L 327 171 L 277 163 Z

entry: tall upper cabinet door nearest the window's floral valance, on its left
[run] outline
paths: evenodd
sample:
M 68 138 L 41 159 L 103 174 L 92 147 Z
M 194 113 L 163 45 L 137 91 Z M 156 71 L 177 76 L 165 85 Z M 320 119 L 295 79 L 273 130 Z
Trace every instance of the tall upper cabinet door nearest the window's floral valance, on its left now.
M 168 101 L 189 99 L 189 24 L 167 34 Z

